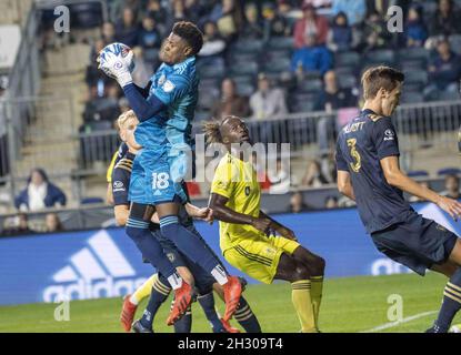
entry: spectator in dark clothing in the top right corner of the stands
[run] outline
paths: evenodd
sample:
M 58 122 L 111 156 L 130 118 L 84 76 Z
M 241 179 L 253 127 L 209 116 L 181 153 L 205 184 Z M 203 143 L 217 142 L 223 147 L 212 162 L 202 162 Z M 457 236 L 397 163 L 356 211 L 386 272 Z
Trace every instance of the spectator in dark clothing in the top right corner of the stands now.
M 431 36 L 450 36 L 461 32 L 460 13 L 452 0 L 439 0 L 437 12 L 431 17 Z

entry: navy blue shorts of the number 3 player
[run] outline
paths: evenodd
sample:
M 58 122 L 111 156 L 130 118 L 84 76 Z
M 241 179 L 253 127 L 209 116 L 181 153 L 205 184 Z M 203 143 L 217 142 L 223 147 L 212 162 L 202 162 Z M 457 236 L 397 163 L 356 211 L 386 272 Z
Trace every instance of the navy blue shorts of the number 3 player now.
M 371 239 L 381 253 L 424 276 L 432 265 L 448 261 L 458 236 L 434 221 L 412 213 L 407 222 L 374 232 Z

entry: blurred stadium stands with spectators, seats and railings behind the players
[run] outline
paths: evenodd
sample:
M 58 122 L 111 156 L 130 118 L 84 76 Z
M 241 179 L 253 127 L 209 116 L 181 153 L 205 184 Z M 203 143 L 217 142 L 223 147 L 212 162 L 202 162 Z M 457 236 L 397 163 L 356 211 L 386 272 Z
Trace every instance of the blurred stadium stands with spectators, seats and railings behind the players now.
M 70 31 L 58 33 L 61 4 Z M 400 33 L 388 30 L 394 4 Z M 291 143 L 289 164 L 280 159 L 275 172 L 255 162 L 267 212 L 353 206 L 335 189 L 333 148 L 361 103 L 361 73 L 380 63 L 407 75 L 394 114 L 404 170 L 460 199 L 460 16 L 461 1 L 449 0 L 2 0 L 0 233 L 114 224 L 106 170 L 120 143 L 113 122 L 129 106 L 94 60 L 123 42 L 136 52 L 136 82 L 146 84 L 179 20 L 204 33 L 194 133 L 235 114 L 254 141 Z M 207 204 L 208 183 L 189 189 Z

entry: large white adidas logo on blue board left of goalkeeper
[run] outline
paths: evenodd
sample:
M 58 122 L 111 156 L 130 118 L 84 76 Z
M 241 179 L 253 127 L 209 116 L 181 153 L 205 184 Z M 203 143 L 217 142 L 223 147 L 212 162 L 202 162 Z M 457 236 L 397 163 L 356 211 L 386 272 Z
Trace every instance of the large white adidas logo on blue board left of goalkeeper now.
M 69 265 L 52 275 L 56 284 L 43 291 L 43 302 L 117 297 L 132 293 L 146 278 L 136 271 L 106 231 L 72 254 Z

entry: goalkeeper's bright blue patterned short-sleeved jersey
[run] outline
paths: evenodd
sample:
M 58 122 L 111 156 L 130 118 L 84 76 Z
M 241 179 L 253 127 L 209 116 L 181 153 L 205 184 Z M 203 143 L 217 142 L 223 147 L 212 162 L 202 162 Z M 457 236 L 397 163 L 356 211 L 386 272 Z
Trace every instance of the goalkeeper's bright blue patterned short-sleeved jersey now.
M 154 94 L 167 109 L 138 125 L 137 142 L 147 149 L 154 149 L 162 141 L 169 143 L 170 148 L 192 145 L 191 121 L 199 93 L 196 58 L 174 65 L 163 63 L 151 82 L 150 95 Z

